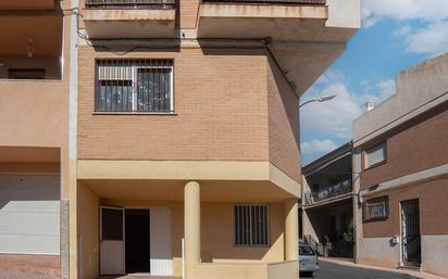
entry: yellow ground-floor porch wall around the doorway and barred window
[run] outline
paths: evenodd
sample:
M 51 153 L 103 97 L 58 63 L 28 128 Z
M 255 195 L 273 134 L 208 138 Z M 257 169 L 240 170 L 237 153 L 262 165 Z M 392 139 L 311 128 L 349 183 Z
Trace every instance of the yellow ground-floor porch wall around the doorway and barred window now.
M 99 206 L 115 205 L 145 208 L 166 206 L 172 216 L 174 276 L 182 276 L 183 202 L 108 201 L 78 182 L 78 233 L 83 237 L 83 279 L 92 279 L 99 270 Z M 234 204 L 201 204 L 201 258 L 203 263 L 272 263 L 284 261 L 284 206 L 270 204 L 269 248 L 234 246 Z M 206 268 L 207 269 L 207 268 Z M 214 269 L 214 268 L 213 268 Z

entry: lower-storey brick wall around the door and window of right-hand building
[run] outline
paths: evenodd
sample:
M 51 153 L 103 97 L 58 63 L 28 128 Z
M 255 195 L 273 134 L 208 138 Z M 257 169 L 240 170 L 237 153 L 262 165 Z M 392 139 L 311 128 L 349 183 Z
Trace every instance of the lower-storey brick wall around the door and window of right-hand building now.
M 421 234 L 448 233 L 448 178 L 440 178 L 375 194 L 389 196 L 389 217 L 363 224 L 364 238 L 400 236 L 400 202 L 419 199 Z M 369 198 L 370 199 L 370 198 Z

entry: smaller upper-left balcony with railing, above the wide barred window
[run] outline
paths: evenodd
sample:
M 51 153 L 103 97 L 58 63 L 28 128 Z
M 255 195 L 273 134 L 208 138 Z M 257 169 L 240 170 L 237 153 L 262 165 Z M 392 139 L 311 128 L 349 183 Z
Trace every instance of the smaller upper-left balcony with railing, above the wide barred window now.
M 87 0 L 84 25 L 90 39 L 172 38 L 176 0 Z

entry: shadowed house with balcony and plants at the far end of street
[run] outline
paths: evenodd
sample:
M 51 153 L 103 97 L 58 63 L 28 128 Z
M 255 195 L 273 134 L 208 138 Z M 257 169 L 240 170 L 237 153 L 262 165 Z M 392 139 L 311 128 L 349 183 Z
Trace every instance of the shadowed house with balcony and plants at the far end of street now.
M 323 255 L 353 256 L 351 151 L 348 142 L 302 167 L 300 237 Z

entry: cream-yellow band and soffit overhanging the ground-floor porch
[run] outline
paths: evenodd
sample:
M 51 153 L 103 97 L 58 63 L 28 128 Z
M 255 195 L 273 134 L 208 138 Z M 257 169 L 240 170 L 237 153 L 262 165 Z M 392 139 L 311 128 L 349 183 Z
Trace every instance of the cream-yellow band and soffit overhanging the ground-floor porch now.
M 203 201 L 277 202 L 298 198 L 300 185 L 269 162 L 78 161 L 78 180 L 104 199 L 182 201 L 187 181 Z

